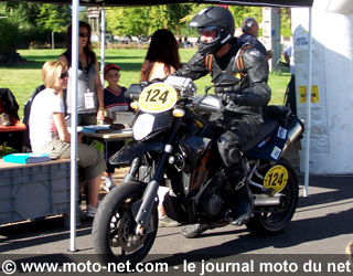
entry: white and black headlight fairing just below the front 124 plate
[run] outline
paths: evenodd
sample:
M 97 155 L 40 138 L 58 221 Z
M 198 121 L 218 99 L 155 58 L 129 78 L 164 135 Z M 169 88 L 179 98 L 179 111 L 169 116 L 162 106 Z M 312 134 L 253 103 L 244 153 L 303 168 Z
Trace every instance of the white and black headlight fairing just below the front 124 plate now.
M 139 112 L 137 119 L 132 125 L 132 135 L 135 140 L 146 140 L 151 136 L 171 127 L 173 115 L 170 110 L 158 114 Z

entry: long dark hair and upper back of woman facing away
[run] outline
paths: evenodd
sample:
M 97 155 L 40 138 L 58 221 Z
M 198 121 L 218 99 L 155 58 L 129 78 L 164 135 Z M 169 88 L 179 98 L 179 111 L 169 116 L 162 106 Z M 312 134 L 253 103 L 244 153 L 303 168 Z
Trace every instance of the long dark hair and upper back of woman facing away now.
M 163 78 L 181 67 L 178 41 L 167 29 L 160 29 L 152 35 L 140 81 Z

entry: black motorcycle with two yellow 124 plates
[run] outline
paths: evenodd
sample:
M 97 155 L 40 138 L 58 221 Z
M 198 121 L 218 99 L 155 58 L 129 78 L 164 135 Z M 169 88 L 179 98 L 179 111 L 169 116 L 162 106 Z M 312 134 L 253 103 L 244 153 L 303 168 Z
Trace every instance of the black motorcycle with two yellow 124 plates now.
M 255 234 L 275 234 L 292 219 L 298 203 L 298 180 L 282 157 L 303 132 L 303 120 L 285 106 L 264 108 L 264 126 L 242 149 L 246 176 L 231 183 L 217 152 L 222 129 L 210 114 L 227 108 L 212 87 L 233 86 L 223 75 L 204 95 L 196 96 L 191 78 L 169 76 L 163 82 L 132 84 L 126 95 L 138 100 L 132 120 L 133 139 L 110 157 L 129 163 L 122 182 L 103 200 L 93 222 L 94 250 L 104 263 L 141 262 L 158 231 L 160 185 L 170 188 L 167 215 L 184 225 L 226 225 L 237 205 L 237 189 L 249 182 L 253 216 L 246 223 Z

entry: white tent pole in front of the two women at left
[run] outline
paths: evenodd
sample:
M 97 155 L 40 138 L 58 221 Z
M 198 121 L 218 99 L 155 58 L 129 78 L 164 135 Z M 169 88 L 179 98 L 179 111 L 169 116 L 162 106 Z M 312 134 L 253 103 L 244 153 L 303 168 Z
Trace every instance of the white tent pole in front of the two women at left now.
M 78 71 L 78 6 L 73 0 L 72 7 L 72 117 L 71 117 L 71 213 L 69 213 L 69 251 L 76 251 L 76 209 L 77 209 L 77 71 Z

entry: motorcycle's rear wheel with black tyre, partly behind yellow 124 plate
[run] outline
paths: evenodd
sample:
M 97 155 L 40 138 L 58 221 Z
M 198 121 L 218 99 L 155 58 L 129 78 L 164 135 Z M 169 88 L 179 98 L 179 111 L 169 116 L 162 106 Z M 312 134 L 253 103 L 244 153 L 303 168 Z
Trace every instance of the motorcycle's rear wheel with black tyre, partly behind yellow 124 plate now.
M 280 159 L 275 166 L 278 166 L 282 171 L 277 176 L 279 181 L 284 181 L 284 179 L 280 179 L 284 177 L 281 173 L 286 174 L 287 172 L 286 185 L 279 191 L 279 194 L 281 194 L 280 204 L 254 208 L 255 216 L 246 224 L 247 229 L 254 234 L 276 234 L 282 231 L 290 223 L 297 209 L 299 187 L 295 171 L 286 159 Z M 265 177 L 275 166 L 269 164 L 263 171 L 259 171 L 260 174 Z M 284 178 L 286 179 L 286 176 Z

